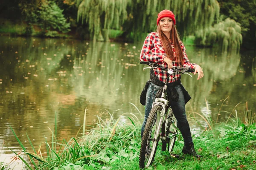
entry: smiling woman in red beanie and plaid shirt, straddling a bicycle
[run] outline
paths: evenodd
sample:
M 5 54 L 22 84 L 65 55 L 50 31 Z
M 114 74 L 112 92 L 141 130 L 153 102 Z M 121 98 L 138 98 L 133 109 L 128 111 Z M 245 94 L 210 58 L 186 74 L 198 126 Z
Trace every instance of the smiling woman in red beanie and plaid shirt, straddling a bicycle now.
M 185 52 L 186 49 L 177 34 L 175 15 L 172 13 L 172 11 L 163 10 L 157 16 L 157 32 L 151 32 L 146 37 L 141 50 L 140 61 L 156 62 L 162 67 L 168 68 L 172 68 L 173 66 L 177 68 L 189 67 L 195 69 L 194 75 L 198 73 L 197 79 L 201 79 L 204 76 L 202 68 L 199 65 L 189 62 Z M 168 75 L 166 71 L 161 72 L 161 68 L 156 68 L 154 69 L 154 73 L 151 74 L 151 79 L 153 78 L 152 76 L 154 79 L 157 77 L 157 81 L 154 80 L 154 84 L 151 82 L 148 86 L 145 103 L 145 119 L 141 128 L 141 136 L 143 136 L 148 115 L 154 101 L 154 96 L 161 86 L 163 86 L 163 83 L 168 81 L 168 86 L 174 87 L 178 96 L 174 99 L 171 99 L 172 96 L 169 96 L 169 99 L 172 100 L 170 105 L 177 119 L 177 127 L 179 128 L 184 139 L 185 145 L 182 152 L 201 157 L 201 155 L 198 155 L 195 152 L 189 123 L 186 119 L 185 104 L 191 97 L 189 94 L 187 94 L 183 85 L 180 83 L 180 73 L 175 72 L 175 74 L 171 75 L 167 79 Z M 154 89 L 152 89 L 152 86 Z

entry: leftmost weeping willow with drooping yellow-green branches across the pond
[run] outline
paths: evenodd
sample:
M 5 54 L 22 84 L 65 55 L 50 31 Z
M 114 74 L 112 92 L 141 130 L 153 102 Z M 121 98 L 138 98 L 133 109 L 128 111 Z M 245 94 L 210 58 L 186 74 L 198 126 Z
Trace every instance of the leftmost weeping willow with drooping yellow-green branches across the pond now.
M 119 29 L 128 18 L 132 0 L 76 0 L 78 21 L 87 23 L 91 37 L 108 41 L 109 29 Z M 103 35 L 102 35 L 103 34 Z

